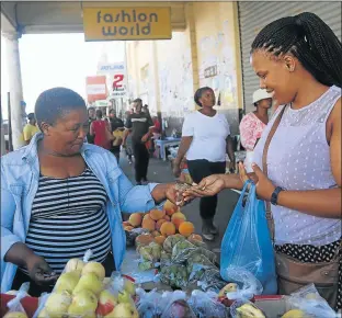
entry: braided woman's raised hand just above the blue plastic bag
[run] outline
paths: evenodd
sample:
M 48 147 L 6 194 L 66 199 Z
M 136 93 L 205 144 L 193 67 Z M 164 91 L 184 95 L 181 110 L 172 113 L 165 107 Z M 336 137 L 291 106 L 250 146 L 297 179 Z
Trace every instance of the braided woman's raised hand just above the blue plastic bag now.
M 271 196 L 275 190 L 275 185 L 262 172 L 258 164 L 252 163 L 252 169 L 254 172 L 247 173 L 243 163 L 239 163 L 239 173 L 241 181 L 244 183 L 249 179 L 252 180 L 255 183 L 258 196 L 262 200 L 271 201 Z

